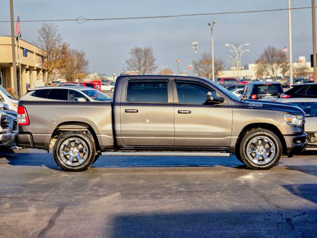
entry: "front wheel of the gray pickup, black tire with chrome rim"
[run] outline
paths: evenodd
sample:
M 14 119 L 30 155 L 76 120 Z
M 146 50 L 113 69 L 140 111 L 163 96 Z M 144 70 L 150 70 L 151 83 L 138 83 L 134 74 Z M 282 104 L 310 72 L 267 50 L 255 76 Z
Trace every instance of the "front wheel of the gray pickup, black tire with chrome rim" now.
M 239 152 L 242 162 L 250 169 L 267 170 L 278 163 L 282 155 L 282 144 L 272 131 L 257 128 L 244 135 Z

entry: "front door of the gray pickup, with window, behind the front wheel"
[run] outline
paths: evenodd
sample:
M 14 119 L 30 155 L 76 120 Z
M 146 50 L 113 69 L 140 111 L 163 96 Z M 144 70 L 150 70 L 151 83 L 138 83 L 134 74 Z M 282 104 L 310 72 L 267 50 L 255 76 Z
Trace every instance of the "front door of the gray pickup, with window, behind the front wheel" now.
M 207 104 L 207 93 L 215 91 L 202 81 L 174 80 L 174 146 L 228 147 L 232 129 L 229 100 Z M 221 95 L 219 95 L 221 96 Z

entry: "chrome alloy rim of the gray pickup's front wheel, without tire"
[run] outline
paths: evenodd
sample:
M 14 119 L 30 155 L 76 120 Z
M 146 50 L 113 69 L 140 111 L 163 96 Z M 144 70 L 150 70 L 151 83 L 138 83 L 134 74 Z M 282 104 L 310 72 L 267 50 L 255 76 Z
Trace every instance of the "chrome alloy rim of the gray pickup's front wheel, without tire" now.
M 247 155 L 255 164 L 267 164 L 275 156 L 275 145 L 273 141 L 266 136 L 254 137 L 248 143 Z

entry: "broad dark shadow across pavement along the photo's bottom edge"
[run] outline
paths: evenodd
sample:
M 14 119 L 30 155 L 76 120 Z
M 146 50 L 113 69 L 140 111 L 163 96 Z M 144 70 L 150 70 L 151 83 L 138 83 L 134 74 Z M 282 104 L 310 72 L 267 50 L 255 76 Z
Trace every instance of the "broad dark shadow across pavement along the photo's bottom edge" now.
M 317 237 L 316 210 L 118 214 L 104 237 Z M 305 225 L 304 225 L 305 224 Z M 109 236 L 109 234 L 111 234 Z

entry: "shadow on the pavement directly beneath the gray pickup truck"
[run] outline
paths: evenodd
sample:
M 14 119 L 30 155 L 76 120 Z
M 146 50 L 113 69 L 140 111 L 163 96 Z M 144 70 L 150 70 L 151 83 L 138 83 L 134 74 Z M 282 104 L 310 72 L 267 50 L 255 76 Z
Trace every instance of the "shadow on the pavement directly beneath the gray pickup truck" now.
M 61 170 L 53 159 L 52 153 L 15 153 L 0 152 L 0 160 L 8 160 L 12 166 L 45 166 Z M 101 156 L 92 168 L 138 168 L 138 167 L 230 167 L 248 169 L 235 156 L 231 157 L 172 157 L 172 156 Z

